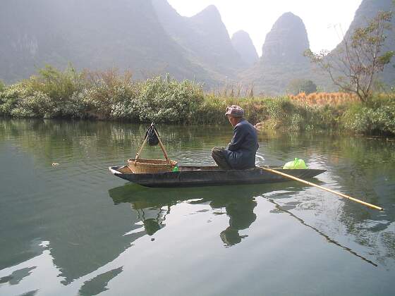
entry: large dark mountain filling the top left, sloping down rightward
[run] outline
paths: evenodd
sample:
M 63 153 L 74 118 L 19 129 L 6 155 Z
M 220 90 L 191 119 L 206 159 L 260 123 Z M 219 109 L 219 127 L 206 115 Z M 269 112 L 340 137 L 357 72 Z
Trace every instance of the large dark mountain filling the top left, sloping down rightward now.
M 27 78 L 45 63 L 120 68 L 136 78 L 171 73 L 212 82 L 164 31 L 146 0 L 3 0 L 0 79 Z

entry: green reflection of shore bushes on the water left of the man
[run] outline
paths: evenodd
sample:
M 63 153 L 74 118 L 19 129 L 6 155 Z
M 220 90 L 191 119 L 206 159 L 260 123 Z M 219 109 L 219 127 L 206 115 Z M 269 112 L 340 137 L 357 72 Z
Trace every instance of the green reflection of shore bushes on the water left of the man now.
M 13 142 L 21 149 L 33 154 L 39 161 L 52 164 L 64 156 L 92 160 L 106 155 L 107 159 L 123 161 L 135 156 L 142 144 L 149 125 L 92 121 L 56 121 L 38 119 L 0 118 L 0 144 Z M 226 130 L 223 132 L 222 130 Z M 220 144 L 212 139 L 221 138 L 229 142 L 229 127 L 171 126 L 158 125 L 161 138 L 171 159 L 180 162 L 202 160 L 212 162 L 210 150 Z M 212 137 L 207 137 L 211 135 Z M 218 140 L 217 140 L 218 141 Z M 199 154 L 191 158 L 189 154 Z M 144 150 L 147 158 L 163 158 L 159 147 Z M 58 162 L 58 161 L 56 161 Z

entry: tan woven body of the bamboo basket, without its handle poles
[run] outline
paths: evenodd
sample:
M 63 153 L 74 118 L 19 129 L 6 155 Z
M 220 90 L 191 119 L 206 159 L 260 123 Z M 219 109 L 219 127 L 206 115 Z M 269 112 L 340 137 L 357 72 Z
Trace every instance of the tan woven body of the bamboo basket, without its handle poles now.
M 177 165 L 177 161 L 164 159 L 128 159 L 128 168 L 133 173 L 162 173 L 171 172 Z

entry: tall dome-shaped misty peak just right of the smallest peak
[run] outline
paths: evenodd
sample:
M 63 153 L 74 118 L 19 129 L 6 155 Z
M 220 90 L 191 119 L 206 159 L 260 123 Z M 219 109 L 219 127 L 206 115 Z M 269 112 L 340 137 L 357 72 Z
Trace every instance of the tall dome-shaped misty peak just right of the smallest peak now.
M 284 94 L 296 78 L 316 82 L 317 73 L 303 56 L 309 47 L 303 20 L 284 13 L 266 35 L 259 63 L 241 74 L 244 84 L 253 85 L 255 92 Z

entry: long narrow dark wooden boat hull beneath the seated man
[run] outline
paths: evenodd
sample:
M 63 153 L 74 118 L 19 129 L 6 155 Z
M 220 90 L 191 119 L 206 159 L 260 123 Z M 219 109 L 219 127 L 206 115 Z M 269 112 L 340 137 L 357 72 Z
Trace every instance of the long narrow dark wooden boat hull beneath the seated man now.
M 299 169 L 277 171 L 296 178 L 313 178 L 326 170 Z M 262 168 L 248 170 L 221 170 L 218 166 L 178 166 L 176 172 L 133 173 L 128 166 L 110 166 L 109 171 L 119 178 L 146 187 L 195 187 L 210 185 L 241 185 L 277 183 L 289 180 L 281 175 L 269 173 Z

